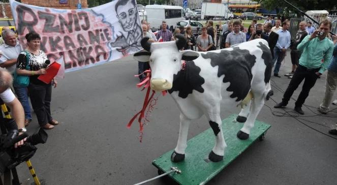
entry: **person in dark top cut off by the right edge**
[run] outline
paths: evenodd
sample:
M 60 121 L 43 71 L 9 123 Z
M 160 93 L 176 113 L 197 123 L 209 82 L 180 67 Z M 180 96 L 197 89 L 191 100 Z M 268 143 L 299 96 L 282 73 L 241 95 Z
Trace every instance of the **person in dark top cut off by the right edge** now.
M 318 111 L 322 114 L 326 114 L 329 111 L 329 105 L 337 86 L 337 36 L 331 37 L 335 46 L 333 48 L 330 65 L 328 67 L 328 73 L 326 75 L 325 95 L 321 105 L 318 107 Z

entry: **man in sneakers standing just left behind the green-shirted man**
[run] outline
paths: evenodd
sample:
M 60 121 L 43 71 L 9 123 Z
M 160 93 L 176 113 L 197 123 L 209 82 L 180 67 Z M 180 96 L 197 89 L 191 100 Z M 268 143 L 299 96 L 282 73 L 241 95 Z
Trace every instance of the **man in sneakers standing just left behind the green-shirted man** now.
M 297 50 L 297 45 L 302 42 L 305 36 L 308 35 L 308 32 L 305 30 L 305 24 L 306 24 L 305 21 L 302 21 L 299 23 L 299 29 L 296 33 L 294 43 L 292 44 L 292 46 L 290 46 L 291 48 L 290 58 L 291 58 L 292 69 L 290 73 L 284 75 L 284 76 L 288 76 L 288 78 L 292 78 L 294 71 L 296 70 L 298 66 L 299 57 L 301 56 L 301 53 Z

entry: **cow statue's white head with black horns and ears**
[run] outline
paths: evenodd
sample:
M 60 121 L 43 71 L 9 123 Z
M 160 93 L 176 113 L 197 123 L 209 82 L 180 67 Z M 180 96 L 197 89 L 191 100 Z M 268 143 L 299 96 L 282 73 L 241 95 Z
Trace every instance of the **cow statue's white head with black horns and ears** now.
M 179 51 L 186 45 L 183 35 L 177 34 L 176 41 L 149 42 L 145 37 L 141 45 L 146 51 L 134 54 L 138 61 L 149 61 L 151 67 L 151 88 L 154 90 L 168 90 L 172 88 L 173 76 L 181 70 L 181 60 L 194 60 L 199 53 L 192 50 Z

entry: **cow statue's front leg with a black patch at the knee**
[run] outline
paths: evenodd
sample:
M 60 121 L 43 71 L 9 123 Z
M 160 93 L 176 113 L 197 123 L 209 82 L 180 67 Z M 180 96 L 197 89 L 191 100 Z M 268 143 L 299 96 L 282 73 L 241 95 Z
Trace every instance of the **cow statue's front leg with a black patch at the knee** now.
M 208 122 L 216 136 L 216 144 L 208 155 L 212 162 L 219 162 L 224 159 L 224 150 L 227 147 L 224 134 L 222 132 L 222 121 L 220 115 L 208 114 Z

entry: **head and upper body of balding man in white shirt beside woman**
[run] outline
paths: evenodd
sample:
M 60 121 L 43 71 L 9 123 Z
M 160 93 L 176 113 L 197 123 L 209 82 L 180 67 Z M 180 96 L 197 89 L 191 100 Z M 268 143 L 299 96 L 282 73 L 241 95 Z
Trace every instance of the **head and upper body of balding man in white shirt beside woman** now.
M 15 33 L 12 30 L 3 30 L 2 37 L 5 44 L 0 46 L 2 56 L 0 57 L 0 67 L 6 68 L 11 74 L 16 69 L 16 60 L 22 51 L 22 47 L 16 39 Z

